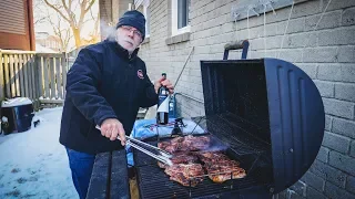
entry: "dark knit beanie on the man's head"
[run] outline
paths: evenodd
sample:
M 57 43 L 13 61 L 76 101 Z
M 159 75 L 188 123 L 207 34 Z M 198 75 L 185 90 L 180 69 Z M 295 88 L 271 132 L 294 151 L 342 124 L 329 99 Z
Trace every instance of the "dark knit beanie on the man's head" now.
M 145 18 L 144 15 L 136 11 L 136 10 L 130 10 L 124 12 L 124 14 L 119 19 L 118 24 L 115 25 L 115 29 L 120 28 L 121 25 L 130 25 L 134 27 L 142 33 L 142 41 L 145 38 Z

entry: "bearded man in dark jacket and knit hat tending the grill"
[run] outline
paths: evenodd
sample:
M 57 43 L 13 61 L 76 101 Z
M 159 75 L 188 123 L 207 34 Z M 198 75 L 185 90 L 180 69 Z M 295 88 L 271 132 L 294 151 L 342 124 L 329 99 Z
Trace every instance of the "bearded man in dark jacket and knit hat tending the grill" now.
M 148 77 L 136 55 L 144 34 L 144 15 L 128 11 L 116 24 L 115 38 L 82 49 L 68 72 L 60 143 L 80 198 L 87 196 L 95 154 L 122 149 L 139 107 L 155 105 L 161 85 L 173 92 L 169 80 L 153 85 Z

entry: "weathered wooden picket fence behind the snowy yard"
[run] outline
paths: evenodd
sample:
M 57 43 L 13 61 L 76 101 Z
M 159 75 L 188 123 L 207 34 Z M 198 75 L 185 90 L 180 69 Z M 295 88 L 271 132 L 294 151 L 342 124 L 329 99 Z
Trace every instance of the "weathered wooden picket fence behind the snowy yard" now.
M 62 104 L 67 71 L 65 54 L 0 50 L 0 98 L 29 97 L 36 109 Z

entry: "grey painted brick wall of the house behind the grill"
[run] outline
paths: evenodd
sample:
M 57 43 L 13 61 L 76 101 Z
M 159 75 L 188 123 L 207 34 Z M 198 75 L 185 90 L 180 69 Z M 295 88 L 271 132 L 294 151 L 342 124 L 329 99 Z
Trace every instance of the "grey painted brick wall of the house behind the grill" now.
M 191 32 L 171 38 L 170 0 L 151 1 L 151 35 L 140 55 L 150 77 L 166 72 L 176 80 L 192 46 L 194 51 L 176 85 L 179 113 L 203 115 L 200 60 L 221 60 L 225 43 L 250 39 L 248 57 L 278 57 L 303 69 L 323 96 L 326 126 L 314 165 L 291 189 L 275 198 L 355 198 L 355 1 L 310 0 L 276 10 L 276 15 L 231 20 L 232 0 L 191 0 Z M 284 35 L 285 28 L 286 34 Z M 248 28 L 248 29 L 247 29 Z M 266 43 L 266 46 L 264 45 Z M 230 53 L 240 59 L 240 52 Z M 186 97 L 189 96 L 189 97 Z

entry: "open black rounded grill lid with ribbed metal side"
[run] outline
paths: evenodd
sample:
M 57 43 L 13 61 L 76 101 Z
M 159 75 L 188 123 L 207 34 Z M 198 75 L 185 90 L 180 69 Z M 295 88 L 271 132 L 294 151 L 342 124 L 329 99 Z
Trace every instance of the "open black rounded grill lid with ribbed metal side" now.
M 244 145 L 253 139 L 252 147 L 270 148 L 265 154 L 272 159 L 274 192 L 295 184 L 313 164 L 324 136 L 324 106 L 310 76 L 277 59 L 201 61 L 201 72 L 207 130 L 209 119 L 224 118 L 221 126 L 240 123 L 229 130 L 234 137 L 245 134 Z M 225 119 L 229 115 L 234 121 Z M 222 136 L 229 146 L 235 144 Z

